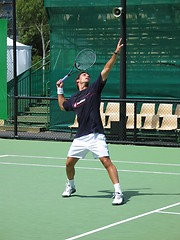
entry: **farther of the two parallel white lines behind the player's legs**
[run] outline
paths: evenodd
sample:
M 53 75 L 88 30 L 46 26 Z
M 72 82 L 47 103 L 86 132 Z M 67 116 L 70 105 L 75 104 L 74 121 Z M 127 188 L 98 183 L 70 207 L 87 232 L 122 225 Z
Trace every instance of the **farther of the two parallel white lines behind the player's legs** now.
M 66 160 L 66 157 L 47 157 L 47 156 L 28 156 L 28 155 L 4 155 L 4 156 L 9 156 L 9 157 L 22 157 L 22 158 L 43 158 L 43 159 L 57 159 L 57 160 Z M 96 159 L 81 159 L 80 161 L 90 161 L 90 162 L 99 162 L 99 160 Z M 153 162 L 132 162 L 132 161 L 120 161 L 120 160 L 112 160 L 113 162 L 116 163 L 127 163 L 127 164 L 142 164 L 142 165 L 158 165 L 158 166 L 174 166 L 174 167 L 180 167 L 180 164 L 176 163 L 153 163 Z

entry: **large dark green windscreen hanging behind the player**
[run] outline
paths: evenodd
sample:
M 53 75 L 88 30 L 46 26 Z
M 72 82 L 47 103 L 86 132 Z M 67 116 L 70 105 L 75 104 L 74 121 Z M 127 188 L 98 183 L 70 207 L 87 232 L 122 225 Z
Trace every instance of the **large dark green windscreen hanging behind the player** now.
M 126 2 L 127 98 L 180 98 L 180 2 Z M 96 52 L 97 61 L 89 73 L 91 81 L 98 77 L 120 38 L 120 18 L 112 14 L 120 5 L 117 0 L 45 1 L 51 32 L 52 97 L 56 96 L 56 81 L 67 74 L 83 48 Z M 66 97 L 76 91 L 74 79 L 75 75 L 64 82 Z M 102 97 L 121 97 L 119 88 L 120 60 L 108 77 Z M 53 126 L 58 106 L 51 110 Z

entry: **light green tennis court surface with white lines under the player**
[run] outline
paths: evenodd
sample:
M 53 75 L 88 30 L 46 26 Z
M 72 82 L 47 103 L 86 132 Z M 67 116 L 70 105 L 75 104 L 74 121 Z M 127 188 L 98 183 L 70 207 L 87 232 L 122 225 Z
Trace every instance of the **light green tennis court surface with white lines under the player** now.
M 180 149 L 109 145 L 125 204 L 91 154 L 62 198 L 71 143 L 0 139 L 0 240 L 179 240 Z

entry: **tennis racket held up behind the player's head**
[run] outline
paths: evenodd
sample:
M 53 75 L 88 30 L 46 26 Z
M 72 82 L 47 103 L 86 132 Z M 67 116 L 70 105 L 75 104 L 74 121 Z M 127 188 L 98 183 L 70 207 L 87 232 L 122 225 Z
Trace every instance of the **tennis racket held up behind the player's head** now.
M 78 71 L 86 71 L 90 67 L 94 65 L 96 62 L 96 53 L 92 49 L 83 49 L 78 53 L 78 55 L 75 58 L 73 67 L 69 71 L 69 73 L 61 79 L 63 82 L 65 79 L 67 79 L 70 75 L 73 73 L 76 73 Z M 73 71 L 74 68 L 76 68 L 76 71 Z

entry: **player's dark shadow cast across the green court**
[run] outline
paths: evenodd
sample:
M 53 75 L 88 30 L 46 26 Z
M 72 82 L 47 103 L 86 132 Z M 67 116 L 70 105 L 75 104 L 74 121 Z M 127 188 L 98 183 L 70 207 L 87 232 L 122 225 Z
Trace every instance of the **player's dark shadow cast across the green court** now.
M 141 192 L 141 190 L 143 192 Z M 144 192 L 144 190 L 149 190 L 149 188 L 143 188 L 143 189 L 136 189 L 136 190 L 126 190 L 123 191 L 123 195 L 124 195 L 124 203 L 127 203 L 128 201 L 130 201 L 131 198 L 133 197 L 137 197 L 137 196 L 170 196 L 170 195 L 180 195 L 180 193 L 151 193 L 151 192 Z M 80 194 L 74 194 L 72 195 L 73 197 L 79 197 L 79 198 L 112 198 L 113 196 L 113 192 L 110 190 L 103 190 L 103 191 L 98 191 L 99 193 L 102 194 L 98 194 L 98 195 L 80 195 Z

